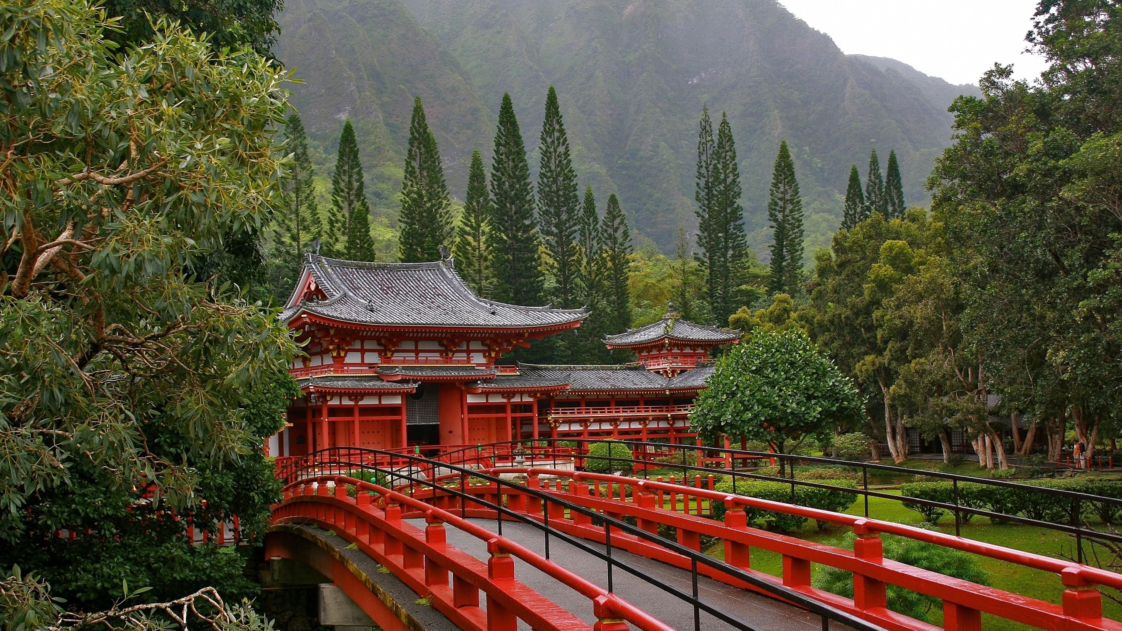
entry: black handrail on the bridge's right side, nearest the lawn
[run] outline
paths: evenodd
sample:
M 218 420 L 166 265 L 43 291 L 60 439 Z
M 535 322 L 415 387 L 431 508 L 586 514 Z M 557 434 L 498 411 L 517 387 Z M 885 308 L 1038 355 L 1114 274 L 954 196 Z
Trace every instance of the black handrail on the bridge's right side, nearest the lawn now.
M 458 450 L 449 450 L 441 456 L 442 459 L 470 459 L 470 454 L 472 450 L 481 454 L 490 452 L 508 452 L 516 445 L 525 445 L 526 441 L 511 441 L 511 442 L 498 442 L 477 446 L 475 448 L 462 448 Z M 1100 541 L 1112 541 L 1115 543 L 1122 543 L 1122 534 L 1118 532 L 1104 531 L 1095 529 L 1087 524 L 1080 515 L 1083 515 L 1089 506 L 1096 504 L 1111 504 L 1114 506 L 1122 507 L 1122 500 L 1116 497 L 1105 497 L 1102 495 L 1092 495 L 1088 493 L 1080 493 L 1076 491 L 1068 491 L 1064 488 L 1049 488 L 1045 486 L 1032 486 L 1028 484 L 1019 484 L 1015 482 L 1009 482 L 1003 479 L 988 479 L 972 477 L 958 474 L 949 474 L 935 470 L 918 470 L 910 469 L 907 467 L 896 467 L 892 465 L 882 465 L 879 463 L 862 463 L 854 460 L 839 460 L 836 458 L 818 457 L 818 456 L 799 456 L 793 454 L 773 454 L 769 451 L 752 451 L 745 449 L 732 449 L 732 448 L 719 448 L 719 447 L 703 447 L 695 445 L 669 445 L 661 442 L 643 442 L 643 441 L 631 441 L 631 440 L 613 440 L 610 442 L 622 443 L 627 446 L 633 454 L 632 458 L 620 458 L 618 455 L 608 451 L 608 456 L 594 456 L 589 454 L 589 448 L 598 442 L 606 442 L 605 440 L 592 440 L 592 439 L 565 439 L 565 440 L 554 440 L 554 439 L 540 439 L 535 442 L 535 452 L 540 454 L 540 457 L 546 457 L 551 449 L 555 449 L 559 452 L 565 454 L 567 457 L 574 458 L 577 461 L 577 467 L 580 468 L 585 466 L 590 460 L 599 460 L 603 464 L 607 464 L 609 470 L 619 469 L 633 469 L 636 475 L 646 476 L 647 472 L 653 468 L 664 468 L 674 472 L 681 472 L 683 476 L 701 475 L 707 476 L 712 473 L 719 473 L 725 476 L 729 476 L 734 481 L 747 481 L 756 479 L 764 482 L 780 482 L 791 486 L 791 495 L 794 497 L 795 487 L 809 487 L 809 488 L 826 488 L 831 491 L 838 491 L 843 493 L 853 494 L 858 496 L 864 502 L 864 514 L 867 518 L 868 512 L 868 501 L 871 497 L 877 497 L 882 500 L 889 500 L 892 502 L 908 503 L 920 506 L 930 506 L 932 509 L 939 509 L 947 511 L 954 515 L 955 519 L 955 536 L 960 537 L 963 533 L 962 525 L 966 523 L 971 518 L 978 515 L 984 518 L 991 518 L 995 521 L 1020 523 L 1024 525 L 1033 525 L 1038 528 L 1046 528 L 1048 530 L 1055 530 L 1058 532 L 1064 532 L 1075 537 L 1075 548 L 1076 558 L 1078 560 L 1085 560 L 1087 555 L 1084 551 L 1084 540 L 1100 540 Z M 689 456 L 693 454 L 696 458 L 690 458 Z M 674 461 L 674 458 L 681 456 L 681 463 Z M 659 458 L 659 460 L 655 460 Z M 758 473 L 758 468 L 763 464 L 782 463 L 784 466 L 782 470 L 785 473 L 784 476 L 778 475 L 765 475 Z M 714 464 L 720 464 L 721 467 L 716 468 Z M 738 466 L 739 465 L 739 466 Z M 846 468 L 856 469 L 861 476 L 856 488 L 847 486 L 837 486 L 830 484 L 822 484 L 818 481 L 798 479 L 795 477 L 795 466 L 797 465 L 824 465 L 824 466 L 842 466 Z M 875 479 L 876 473 L 891 474 L 894 476 L 916 476 L 922 475 L 927 477 L 944 479 L 951 483 L 951 497 L 949 502 L 939 502 L 935 500 L 927 500 L 922 497 L 910 497 L 903 495 L 896 495 L 892 493 L 884 493 L 881 491 L 875 491 L 870 486 L 870 476 L 872 475 Z M 1005 512 L 997 512 L 985 510 L 978 506 L 972 506 L 966 503 L 965 494 L 962 493 L 959 488 L 960 484 L 978 484 L 982 486 L 993 487 L 993 488 L 1010 488 L 1015 490 L 1020 493 L 1026 494 L 1038 494 L 1050 497 L 1063 499 L 1070 503 L 1067 523 L 1058 523 L 1056 521 L 1048 521 L 1042 519 L 1034 519 L 1029 516 L 1023 516 L 1021 514 L 1012 514 Z

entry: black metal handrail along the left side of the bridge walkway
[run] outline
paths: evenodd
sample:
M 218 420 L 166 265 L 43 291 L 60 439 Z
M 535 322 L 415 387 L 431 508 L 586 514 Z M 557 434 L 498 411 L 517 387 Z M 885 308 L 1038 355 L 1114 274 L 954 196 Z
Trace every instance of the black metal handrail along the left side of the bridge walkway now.
M 344 454 L 347 456 L 351 456 L 351 455 L 355 455 L 355 454 L 374 454 L 374 455 L 378 455 L 378 456 L 386 456 L 388 458 L 388 467 L 379 467 L 377 465 L 371 465 L 369 463 L 362 461 L 361 458 L 358 459 L 358 460 L 351 461 L 349 459 L 344 459 L 343 458 Z M 327 458 L 324 459 L 323 457 L 320 457 L 320 456 L 325 456 Z M 408 463 L 407 466 L 406 467 L 395 468 L 394 467 L 394 459 L 395 458 L 407 460 L 407 463 Z M 422 465 L 423 467 L 419 466 L 416 473 L 414 473 L 414 467 L 413 467 L 414 464 Z M 564 500 L 563 497 L 559 497 L 557 495 L 543 492 L 541 490 L 531 488 L 530 486 L 524 486 L 522 484 L 517 484 L 517 483 L 514 483 L 514 482 L 505 481 L 505 479 L 503 479 L 503 478 L 500 478 L 498 476 L 493 476 L 493 475 L 485 474 L 485 473 L 481 473 L 481 472 L 478 472 L 478 470 L 475 470 L 475 469 L 461 467 L 459 465 L 453 465 L 451 463 L 447 463 L 447 461 L 443 461 L 443 460 L 434 460 L 432 458 L 426 458 L 424 456 L 417 456 L 417 455 L 413 455 L 413 454 L 401 454 L 401 452 L 394 452 L 394 451 L 385 451 L 385 450 L 380 450 L 380 449 L 368 449 L 368 448 L 364 448 L 364 447 L 331 447 L 331 448 L 322 449 L 322 450 L 315 451 L 313 454 L 310 454 L 307 456 L 304 456 L 301 460 L 297 460 L 297 461 L 293 463 L 293 468 L 294 468 L 294 470 L 292 470 L 289 473 L 289 475 L 296 475 L 298 472 L 302 472 L 302 470 L 314 470 L 314 473 L 316 473 L 318 475 L 321 475 L 321 476 L 323 476 L 323 475 L 344 475 L 344 469 L 346 469 L 346 473 L 350 473 L 350 472 L 352 472 L 356 468 L 358 468 L 358 469 L 365 469 L 365 470 L 380 472 L 380 473 L 385 474 L 387 476 L 387 478 L 394 478 L 394 479 L 398 479 L 398 481 L 407 481 L 408 484 L 410 484 L 411 492 L 412 492 L 413 488 L 415 488 L 419 485 L 420 486 L 427 486 L 427 487 L 432 488 L 433 490 L 433 499 L 434 500 L 435 500 L 435 496 L 436 496 L 436 491 L 449 493 L 451 495 L 456 495 L 456 496 L 460 497 L 460 500 L 461 500 L 460 506 L 461 506 L 462 511 L 467 510 L 467 501 L 470 500 L 472 503 L 480 504 L 480 505 L 484 505 L 486 507 L 489 507 L 489 509 L 496 511 L 496 522 L 497 522 L 497 530 L 498 530 L 498 534 L 499 536 L 503 534 L 503 519 L 504 519 L 504 515 L 509 516 L 514 521 L 519 521 L 519 522 L 523 522 L 523 523 L 527 523 L 527 524 L 530 524 L 530 525 L 532 525 L 534 528 L 537 528 L 537 529 L 542 530 L 544 532 L 544 534 L 545 534 L 545 558 L 546 559 L 550 558 L 550 537 L 553 537 L 553 538 L 557 538 L 557 539 L 559 539 L 561 541 L 564 541 L 565 543 L 574 546 L 574 547 L 581 549 L 582 551 L 591 554 L 591 555 L 594 555 L 595 557 L 597 557 L 597 558 L 599 558 L 601 560 L 605 560 L 607 563 L 607 568 L 608 568 L 608 592 L 609 593 L 613 592 L 613 587 L 614 587 L 613 579 L 611 579 L 613 568 L 617 567 L 619 569 L 623 569 L 623 570 L 627 571 L 628 574 L 632 574 L 632 575 L 634 575 L 634 576 L 636 576 L 636 577 L 645 580 L 646 583 L 649 583 L 651 585 L 660 587 L 661 589 L 665 591 L 669 594 L 674 595 L 678 598 L 681 598 L 681 600 L 688 602 L 693 607 L 695 631 L 700 631 L 700 629 L 701 629 L 701 627 L 700 627 L 700 612 L 701 611 L 705 611 L 706 613 L 708 613 L 708 614 L 710 614 L 710 615 L 712 615 L 715 618 L 718 618 L 718 619 L 723 620 L 724 622 L 727 622 L 728 624 L 732 624 L 735 628 L 741 629 L 743 631 L 761 631 L 758 628 L 753 627 L 748 622 L 745 622 L 744 620 L 742 620 L 742 619 L 739 619 L 739 618 L 737 618 L 737 616 L 728 613 L 727 611 L 718 607 L 717 605 L 714 605 L 714 604 L 708 603 L 705 600 L 700 598 L 700 596 L 698 595 L 698 589 L 697 589 L 697 585 L 698 585 L 698 566 L 699 566 L 699 564 L 700 565 L 705 565 L 707 567 L 710 567 L 712 569 L 719 570 L 719 571 L 721 571 L 721 573 L 724 573 L 726 575 L 729 575 L 729 576 L 732 576 L 732 577 L 734 577 L 736 579 L 743 580 L 743 582 L 745 582 L 745 583 L 747 583 L 747 584 L 749 584 L 749 585 L 752 585 L 752 586 L 754 586 L 754 587 L 756 587 L 756 588 L 758 588 L 758 589 L 761 589 L 763 592 L 766 592 L 766 593 L 771 594 L 772 596 L 775 596 L 775 597 L 778 597 L 780 600 L 784 600 L 784 601 L 787 601 L 789 603 L 798 605 L 798 606 L 800 606 L 802 609 L 806 609 L 807 611 L 809 611 L 811 613 L 815 613 L 815 614 L 819 615 L 821 618 L 821 620 L 822 620 L 822 629 L 824 629 L 824 631 L 826 631 L 828 629 L 828 622 L 829 621 L 835 621 L 835 622 L 839 622 L 842 624 L 846 624 L 849 628 L 854 629 L 855 631 L 886 631 L 882 627 L 873 624 L 873 623 L 871 623 L 871 622 L 868 622 L 866 620 L 863 620 L 863 619 L 861 619 L 861 618 L 858 618 L 856 615 L 853 615 L 850 613 L 844 612 L 844 611 L 838 610 L 838 609 L 836 609 L 834 606 L 830 606 L 828 604 L 825 604 L 825 603 L 821 603 L 819 601 L 816 601 L 816 600 L 813 600 L 813 598 L 811 598 L 811 597 L 809 597 L 809 596 L 807 596 L 807 595 L 804 595 L 804 594 L 802 594 L 800 592 L 791 589 L 789 587 L 785 587 L 785 586 L 782 586 L 782 585 L 776 585 L 776 584 L 774 584 L 774 583 L 772 583 L 770 580 L 765 580 L 763 578 L 760 578 L 760 577 L 753 575 L 753 574 L 751 574 L 748 571 L 745 571 L 745 570 L 743 570 L 743 569 L 741 569 L 741 568 L 738 568 L 736 566 L 729 565 L 729 564 L 727 564 L 727 563 L 725 563 L 723 560 L 715 559 L 715 558 L 712 558 L 712 557 L 710 557 L 708 555 L 703 555 L 703 554 L 701 554 L 701 552 L 699 552 L 697 550 L 693 550 L 692 548 L 682 546 L 681 543 L 678 543 L 677 541 L 672 541 L 672 540 L 665 539 L 663 537 L 660 537 L 659 534 L 655 534 L 655 533 L 649 532 L 646 530 L 643 530 L 643 529 L 641 529 L 638 527 L 632 525 L 632 524 L 629 524 L 629 523 L 627 523 L 627 522 L 625 522 L 623 520 L 613 518 L 613 516 L 604 514 L 604 513 L 599 513 L 599 512 L 597 512 L 597 511 L 595 511 L 592 509 L 588 509 L 588 507 L 581 506 L 579 504 L 576 504 L 573 502 Z M 324 470 L 324 468 L 327 468 L 328 470 Z M 448 468 L 448 469 L 452 469 L 456 473 L 459 473 L 460 474 L 460 487 L 456 488 L 454 486 L 452 486 L 452 487 L 450 487 L 450 486 L 443 486 L 443 485 L 441 485 L 441 484 L 439 484 L 436 482 L 435 476 L 433 476 L 433 478 L 430 479 L 426 476 L 420 475 L 420 473 L 421 473 L 422 469 L 432 469 L 433 472 L 435 472 L 435 469 L 438 469 L 438 468 Z M 334 469 L 334 470 L 332 472 L 331 469 Z M 404 472 L 407 472 L 407 473 L 404 473 L 403 469 L 404 469 Z M 481 497 L 477 497 L 475 495 L 471 495 L 470 493 L 467 492 L 467 479 L 469 477 L 476 477 L 476 478 L 486 479 L 489 483 L 494 483 L 496 485 L 496 488 L 498 488 L 498 487 L 512 488 L 512 490 L 516 490 L 518 493 L 522 493 L 524 495 L 531 495 L 533 497 L 536 497 L 537 500 L 540 500 L 542 502 L 542 521 L 537 521 L 536 519 L 533 519 L 530 515 L 522 514 L 522 513 L 518 513 L 518 512 L 515 512 L 515 511 L 512 511 L 512 510 L 507 509 L 506 506 L 504 506 L 502 504 L 502 497 L 499 499 L 498 503 L 495 503 L 495 502 L 490 502 L 490 501 L 484 500 Z M 558 530 L 558 529 L 551 527 L 549 524 L 549 513 L 550 513 L 550 511 L 549 511 L 549 504 L 550 503 L 560 505 L 562 507 L 562 510 L 568 510 L 570 514 L 580 513 L 580 514 L 583 514 L 583 515 L 588 516 L 589 519 L 596 519 L 596 520 L 600 521 L 601 523 L 604 523 L 605 540 L 606 540 L 605 549 L 601 550 L 601 549 L 599 549 L 599 548 L 597 548 L 595 546 L 589 546 L 582 539 L 573 537 L 573 536 L 570 536 L 570 534 L 568 534 L 568 533 L 565 533 L 565 532 L 563 532 L 561 530 Z M 617 530 L 617 531 L 620 531 L 620 532 L 626 532 L 628 534 L 632 534 L 634 537 L 637 537 L 637 538 L 643 539 L 645 541 L 649 541 L 651 543 L 655 543 L 655 545 L 657 545 L 657 546 L 660 546 L 662 548 L 665 548 L 665 549 L 668 549 L 670 551 L 673 551 L 673 552 L 675 552 L 678 555 L 681 555 L 682 557 L 688 558 L 690 560 L 690 566 L 691 566 L 690 573 L 691 573 L 691 580 L 692 580 L 692 585 L 693 585 L 692 593 L 688 593 L 688 592 L 682 591 L 682 589 L 680 589 L 678 587 L 674 587 L 673 585 L 669 585 L 665 582 L 663 582 L 663 580 L 661 580 L 661 579 L 659 579 L 659 578 L 656 578 L 654 576 L 651 576 L 650 573 L 649 573 L 649 570 L 644 570 L 642 568 L 635 568 L 635 567 L 631 566 L 629 564 L 627 564 L 626 561 L 622 560 L 620 557 L 618 557 L 616 555 L 613 555 L 611 554 L 611 549 L 613 549 L 613 545 L 611 545 L 611 531 L 613 530 Z

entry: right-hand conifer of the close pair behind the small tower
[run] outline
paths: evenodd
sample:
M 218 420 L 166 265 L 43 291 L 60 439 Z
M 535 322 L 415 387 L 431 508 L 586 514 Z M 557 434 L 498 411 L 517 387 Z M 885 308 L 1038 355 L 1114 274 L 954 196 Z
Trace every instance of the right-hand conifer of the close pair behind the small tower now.
M 710 253 L 710 274 L 716 273 L 716 282 L 710 280 L 709 286 L 716 293 L 709 296 L 710 307 L 718 322 L 727 322 L 728 317 L 736 311 L 737 289 L 744 281 L 748 264 L 748 244 L 744 232 L 744 207 L 741 205 L 741 171 L 736 164 L 736 144 L 733 140 L 733 128 L 725 112 L 720 113 L 720 126 L 717 129 L 712 170 L 714 210 L 709 226 L 716 236 L 720 248 Z M 717 256 L 714 256 L 716 254 Z

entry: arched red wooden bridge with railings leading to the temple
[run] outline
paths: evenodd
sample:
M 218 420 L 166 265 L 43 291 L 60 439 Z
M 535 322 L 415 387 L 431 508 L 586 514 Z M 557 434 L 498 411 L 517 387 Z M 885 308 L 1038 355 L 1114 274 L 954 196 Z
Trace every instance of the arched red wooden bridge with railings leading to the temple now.
M 503 459 L 473 452 L 479 456 L 350 448 L 287 460 L 266 557 L 318 569 L 387 631 L 938 629 L 890 611 L 889 585 L 940 600 L 949 631 L 981 630 L 983 613 L 1049 631 L 1122 631 L 1122 623 L 1103 618 L 1096 588 L 1122 588 L 1116 573 L 728 495 L 702 477 L 660 482 L 573 470 L 579 455 L 571 452 Z M 715 502 L 726 509 L 720 520 Z M 849 528 L 854 549 L 752 528 L 745 509 Z M 1061 602 L 886 559 L 882 533 L 1000 559 L 1011 571 L 1051 573 L 1065 587 Z M 701 552 L 702 542 L 717 541 L 724 560 Z M 752 548 L 781 555 L 782 575 L 753 569 Z M 854 597 L 813 587 L 811 564 L 852 571 Z M 403 593 L 425 600 L 411 602 Z M 425 615 L 416 613 L 417 603 Z

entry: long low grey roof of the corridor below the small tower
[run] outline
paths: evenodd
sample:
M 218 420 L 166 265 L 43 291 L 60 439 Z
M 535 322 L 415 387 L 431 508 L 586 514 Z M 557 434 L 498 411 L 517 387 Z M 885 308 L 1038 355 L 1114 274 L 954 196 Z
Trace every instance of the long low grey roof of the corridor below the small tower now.
M 666 376 L 646 369 L 641 365 L 540 365 L 519 364 L 518 372 L 525 379 L 540 382 L 563 381 L 571 384 L 569 392 L 576 393 L 615 393 L 615 392 L 690 392 L 705 387 L 706 377 L 711 374 L 711 367 L 705 374 L 683 378 L 690 373 L 706 371 L 697 368 L 682 375 Z

